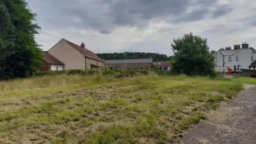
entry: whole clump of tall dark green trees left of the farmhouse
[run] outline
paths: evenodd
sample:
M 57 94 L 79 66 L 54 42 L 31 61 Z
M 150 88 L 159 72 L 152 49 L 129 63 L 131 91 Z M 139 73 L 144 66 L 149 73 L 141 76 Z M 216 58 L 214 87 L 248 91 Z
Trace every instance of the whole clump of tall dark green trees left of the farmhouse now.
M 40 27 L 24 0 L 0 1 L 0 78 L 27 77 L 41 65 Z

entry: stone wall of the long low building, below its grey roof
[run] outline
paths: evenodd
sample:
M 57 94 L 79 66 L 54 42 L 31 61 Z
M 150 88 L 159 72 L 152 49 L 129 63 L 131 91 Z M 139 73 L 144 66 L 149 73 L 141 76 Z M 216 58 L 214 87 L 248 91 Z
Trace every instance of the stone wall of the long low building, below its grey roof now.
M 106 64 L 110 69 L 152 69 L 152 63 L 125 63 L 125 64 Z

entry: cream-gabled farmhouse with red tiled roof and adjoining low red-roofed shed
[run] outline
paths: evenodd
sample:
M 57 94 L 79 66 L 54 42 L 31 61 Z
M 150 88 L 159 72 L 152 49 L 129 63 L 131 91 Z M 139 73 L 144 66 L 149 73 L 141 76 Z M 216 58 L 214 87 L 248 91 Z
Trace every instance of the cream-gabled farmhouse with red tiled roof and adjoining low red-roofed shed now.
M 49 51 L 44 52 L 43 66 L 38 70 L 88 70 L 104 66 L 105 62 L 86 49 L 83 42 L 77 45 L 62 38 Z

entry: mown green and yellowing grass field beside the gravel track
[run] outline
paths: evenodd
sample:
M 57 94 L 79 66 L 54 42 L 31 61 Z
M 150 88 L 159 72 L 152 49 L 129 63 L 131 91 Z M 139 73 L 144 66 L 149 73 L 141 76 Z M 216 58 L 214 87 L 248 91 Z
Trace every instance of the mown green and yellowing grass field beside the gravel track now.
M 168 143 L 242 89 L 186 76 L 0 82 L 0 143 Z

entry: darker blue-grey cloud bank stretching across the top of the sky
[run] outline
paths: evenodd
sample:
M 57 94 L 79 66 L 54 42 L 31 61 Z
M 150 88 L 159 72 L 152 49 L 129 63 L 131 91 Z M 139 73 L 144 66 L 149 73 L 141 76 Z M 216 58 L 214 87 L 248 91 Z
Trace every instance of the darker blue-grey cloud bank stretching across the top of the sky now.
M 154 18 L 175 17 L 175 22 L 196 21 L 204 19 L 209 13 L 208 7 L 216 4 L 215 0 L 45 0 L 35 2 L 38 18 L 44 20 L 45 27 L 54 28 L 89 28 L 108 34 L 117 26 L 145 27 Z M 185 13 L 188 7 L 199 9 Z M 47 11 L 45 11 L 47 10 Z M 215 11 L 214 17 L 220 17 L 221 10 Z M 186 14 L 184 16 L 184 14 Z M 75 22 L 77 17 L 81 22 Z M 38 21 L 39 21 L 38 20 Z M 45 21 L 46 20 L 46 21 Z M 172 21 L 173 22 L 173 21 Z

